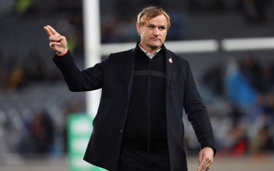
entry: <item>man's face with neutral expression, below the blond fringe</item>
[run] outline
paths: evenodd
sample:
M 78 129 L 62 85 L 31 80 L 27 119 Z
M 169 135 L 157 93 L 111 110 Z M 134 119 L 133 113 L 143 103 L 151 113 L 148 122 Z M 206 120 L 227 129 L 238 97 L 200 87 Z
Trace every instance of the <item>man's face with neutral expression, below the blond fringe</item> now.
M 141 36 L 141 44 L 150 48 L 157 49 L 166 40 L 168 22 L 166 17 L 161 14 L 153 19 L 147 19 L 144 26 L 136 24 L 137 31 Z

